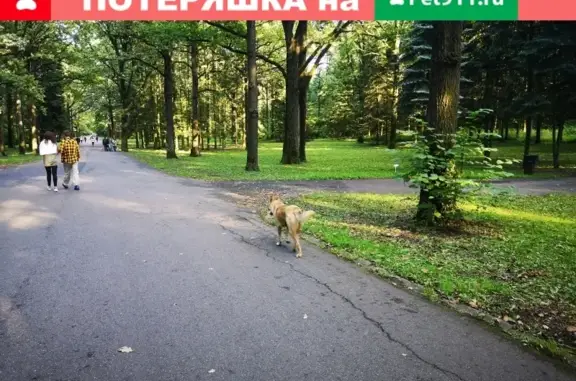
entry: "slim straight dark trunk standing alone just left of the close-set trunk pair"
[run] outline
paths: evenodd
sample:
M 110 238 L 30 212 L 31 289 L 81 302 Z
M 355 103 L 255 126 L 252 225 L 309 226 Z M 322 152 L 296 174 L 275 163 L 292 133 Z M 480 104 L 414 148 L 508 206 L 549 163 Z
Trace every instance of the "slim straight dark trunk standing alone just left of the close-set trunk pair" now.
M 246 21 L 248 47 L 248 127 L 246 170 L 259 171 L 258 167 L 258 79 L 256 76 L 256 21 Z

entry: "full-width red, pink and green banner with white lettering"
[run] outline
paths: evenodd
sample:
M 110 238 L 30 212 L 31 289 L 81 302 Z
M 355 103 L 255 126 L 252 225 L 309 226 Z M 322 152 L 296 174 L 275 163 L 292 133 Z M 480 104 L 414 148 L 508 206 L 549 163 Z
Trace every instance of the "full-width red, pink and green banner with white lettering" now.
M 0 20 L 576 20 L 576 0 L 0 0 Z

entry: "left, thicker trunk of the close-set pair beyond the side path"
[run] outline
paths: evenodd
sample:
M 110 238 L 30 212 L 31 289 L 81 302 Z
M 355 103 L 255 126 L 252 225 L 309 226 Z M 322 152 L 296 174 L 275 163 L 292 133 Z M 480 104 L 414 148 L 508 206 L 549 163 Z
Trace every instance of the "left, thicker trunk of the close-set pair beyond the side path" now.
M 300 164 L 300 128 L 298 118 L 298 54 L 297 36 L 304 27 L 298 23 L 294 35 L 294 21 L 282 21 L 286 43 L 286 117 L 284 125 L 284 144 L 282 147 L 282 164 Z M 302 26 L 301 26 L 302 25 Z

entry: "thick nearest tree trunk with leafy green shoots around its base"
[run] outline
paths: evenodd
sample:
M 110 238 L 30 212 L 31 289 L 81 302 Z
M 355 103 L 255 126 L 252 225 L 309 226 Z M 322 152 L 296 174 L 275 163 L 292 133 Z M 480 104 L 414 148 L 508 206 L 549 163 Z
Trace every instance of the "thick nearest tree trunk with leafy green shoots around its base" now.
M 444 160 L 453 160 L 446 156 L 452 147 L 453 134 L 458 122 L 458 101 L 460 97 L 460 64 L 462 60 L 462 22 L 434 22 L 434 40 L 432 43 L 432 67 L 430 71 L 430 98 L 427 108 L 428 127 L 433 131 L 427 133 L 430 154 Z M 443 139 L 443 149 L 432 136 L 439 134 Z M 429 174 L 447 174 L 447 168 L 434 167 Z M 433 196 L 433 198 L 430 198 Z M 454 209 L 456 200 L 446 190 L 420 189 L 417 219 L 432 223 L 436 213 L 444 214 Z

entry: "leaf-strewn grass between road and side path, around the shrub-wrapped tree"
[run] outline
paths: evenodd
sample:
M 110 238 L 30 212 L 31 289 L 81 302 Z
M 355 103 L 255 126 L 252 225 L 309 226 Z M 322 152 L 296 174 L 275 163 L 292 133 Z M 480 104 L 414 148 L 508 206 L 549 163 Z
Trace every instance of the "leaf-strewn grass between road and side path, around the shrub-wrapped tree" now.
M 415 227 L 414 197 L 290 201 L 316 211 L 305 232 L 333 252 L 500 317 L 549 352 L 576 354 L 576 196 L 478 199 L 461 205 L 465 222 L 450 229 Z

